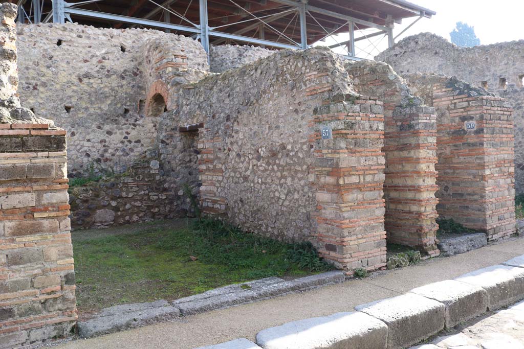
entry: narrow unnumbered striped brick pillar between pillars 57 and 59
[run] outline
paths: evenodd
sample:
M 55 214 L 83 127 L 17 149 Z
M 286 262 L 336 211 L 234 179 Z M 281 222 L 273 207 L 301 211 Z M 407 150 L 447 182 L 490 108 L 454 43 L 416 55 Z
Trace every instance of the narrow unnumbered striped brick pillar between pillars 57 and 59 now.
M 432 107 L 395 107 L 386 119 L 385 227 L 389 242 L 436 247 L 436 115 Z

